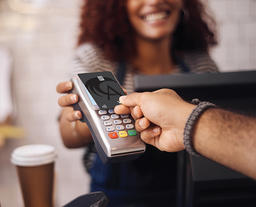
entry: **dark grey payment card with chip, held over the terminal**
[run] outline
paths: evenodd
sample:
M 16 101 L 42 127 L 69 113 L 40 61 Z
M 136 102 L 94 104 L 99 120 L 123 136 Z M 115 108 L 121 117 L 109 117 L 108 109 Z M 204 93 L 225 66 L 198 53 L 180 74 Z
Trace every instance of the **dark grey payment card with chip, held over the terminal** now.
M 119 105 L 119 97 L 125 96 L 123 89 L 110 71 L 80 73 L 78 77 L 101 110 Z

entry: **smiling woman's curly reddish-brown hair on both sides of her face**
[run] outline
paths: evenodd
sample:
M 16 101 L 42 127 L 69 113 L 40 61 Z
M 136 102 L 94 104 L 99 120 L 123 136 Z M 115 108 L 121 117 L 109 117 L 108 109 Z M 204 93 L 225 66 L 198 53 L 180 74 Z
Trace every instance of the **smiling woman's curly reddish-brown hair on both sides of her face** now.
M 200 0 L 183 0 L 188 20 L 180 21 L 172 50 L 201 50 L 208 53 L 217 44 L 216 23 Z M 133 30 L 127 17 L 126 0 L 85 0 L 82 7 L 78 45 L 98 44 L 113 60 L 134 53 Z

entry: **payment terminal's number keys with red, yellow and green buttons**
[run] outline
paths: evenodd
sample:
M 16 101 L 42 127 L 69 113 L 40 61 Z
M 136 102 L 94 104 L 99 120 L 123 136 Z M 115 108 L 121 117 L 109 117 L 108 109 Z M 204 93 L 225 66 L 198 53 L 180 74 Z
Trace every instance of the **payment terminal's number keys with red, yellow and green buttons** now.
M 103 125 L 106 126 L 108 136 L 112 139 L 137 135 L 134 129 L 135 121 L 129 114 L 115 114 L 114 109 L 99 110 Z

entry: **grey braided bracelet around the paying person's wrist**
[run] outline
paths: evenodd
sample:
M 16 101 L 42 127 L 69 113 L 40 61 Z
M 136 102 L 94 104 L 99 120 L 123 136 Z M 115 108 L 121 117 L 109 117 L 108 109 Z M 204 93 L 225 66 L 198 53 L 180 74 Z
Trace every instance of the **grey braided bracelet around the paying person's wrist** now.
M 209 102 L 200 102 L 198 99 L 193 99 L 192 100 L 193 104 L 198 104 L 194 110 L 191 112 L 191 114 L 189 115 L 187 122 L 185 124 L 184 127 L 184 132 L 183 132 L 183 144 L 187 150 L 188 153 L 192 154 L 192 155 L 196 155 L 196 156 L 201 156 L 193 147 L 192 143 L 191 143 L 191 131 L 193 128 L 193 125 L 195 123 L 195 121 L 197 120 L 197 118 L 200 116 L 200 114 L 208 109 L 208 108 L 217 108 L 216 105 L 214 105 L 213 103 L 209 103 Z

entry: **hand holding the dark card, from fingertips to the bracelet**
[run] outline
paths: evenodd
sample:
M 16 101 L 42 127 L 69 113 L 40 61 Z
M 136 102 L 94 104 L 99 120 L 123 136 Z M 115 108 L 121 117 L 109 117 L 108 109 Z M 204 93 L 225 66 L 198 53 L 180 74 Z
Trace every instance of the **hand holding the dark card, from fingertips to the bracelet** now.
M 173 90 L 132 93 L 121 96 L 116 114 L 132 114 L 141 139 L 162 151 L 184 149 L 183 128 L 194 105 L 183 101 Z

